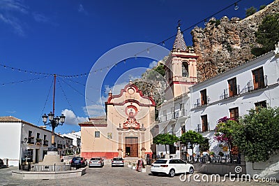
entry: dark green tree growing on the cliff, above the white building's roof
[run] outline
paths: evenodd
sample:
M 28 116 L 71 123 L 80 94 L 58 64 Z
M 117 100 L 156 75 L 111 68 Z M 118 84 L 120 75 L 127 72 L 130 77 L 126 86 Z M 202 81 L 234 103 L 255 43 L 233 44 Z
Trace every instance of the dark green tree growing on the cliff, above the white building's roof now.
M 255 32 L 255 37 L 262 48 L 252 48 L 252 55 L 259 56 L 274 50 L 275 44 L 279 41 L 279 14 L 264 17 Z

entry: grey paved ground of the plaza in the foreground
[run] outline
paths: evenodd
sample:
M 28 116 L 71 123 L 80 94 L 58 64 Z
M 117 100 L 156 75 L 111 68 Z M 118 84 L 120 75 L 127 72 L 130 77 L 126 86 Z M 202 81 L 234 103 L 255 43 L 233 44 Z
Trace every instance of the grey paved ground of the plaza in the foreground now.
M 0 169 L 0 185 L 264 185 L 263 183 L 232 182 L 226 180 L 225 183 L 197 183 L 193 180 L 181 182 L 179 176 L 169 178 L 167 176 L 153 176 L 150 173 L 150 166 L 146 167 L 146 173 L 136 172 L 127 167 L 110 167 L 105 165 L 103 168 L 87 168 L 86 174 L 78 178 L 56 179 L 56 180 L 20 180 L 13 178 L 11 171 L 17 170 L 17 167 Z M 197 180 L 202 180 L 202 174 Z M 278 183 L 269 183 L 265 185 L 279 185 Z

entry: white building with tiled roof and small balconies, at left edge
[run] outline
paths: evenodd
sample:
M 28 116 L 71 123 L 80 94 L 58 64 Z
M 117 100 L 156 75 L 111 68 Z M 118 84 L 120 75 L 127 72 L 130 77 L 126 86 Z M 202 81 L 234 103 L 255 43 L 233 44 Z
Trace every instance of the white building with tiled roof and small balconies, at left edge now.
M 45 126 L 38 127 L 13 116 L 0 117 L 0 131 L 0 158 L 8 159 L 9 166 L 19 166 L 20 159 L 22 163 L 43 162 L 47 149 L 52 145 L 52 131 L 45 129 Z M 63 155 L 63 136 L 55 134 L 54 141 L 59 155 Z M 24 158 L 26 151 L 32 155 L 31 159 Z

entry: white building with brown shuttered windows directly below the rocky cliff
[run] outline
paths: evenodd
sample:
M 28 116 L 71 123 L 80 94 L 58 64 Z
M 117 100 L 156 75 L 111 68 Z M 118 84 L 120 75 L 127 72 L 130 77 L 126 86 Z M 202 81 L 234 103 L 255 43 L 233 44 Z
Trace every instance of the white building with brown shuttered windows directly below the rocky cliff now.
M 221 117 L 239 117 L 256 106 L 279 106 L 278 53 L 269 52 L 225 73 L 190 87 L 190 120 L 186 131 L 200 132 L 209 139 L 213 152 L 227 152 L 227 144 L 213 140 Z M 225 151 L 223 151 L 225 149 Z

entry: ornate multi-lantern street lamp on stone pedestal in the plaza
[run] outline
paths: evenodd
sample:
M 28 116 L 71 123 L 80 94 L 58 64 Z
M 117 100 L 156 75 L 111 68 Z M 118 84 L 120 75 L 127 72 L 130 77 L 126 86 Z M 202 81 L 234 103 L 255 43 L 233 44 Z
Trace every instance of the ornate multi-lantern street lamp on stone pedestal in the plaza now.
M 54 113 L 50 112 L 48 115 L 44 114 L 42 117 L 45 125 L 49 125 L 50 127 L 52 127 L 52 147 L 49 148 L 48 150 L 57 151 L 57 148 L 55 148 L 54 146 L 54 129 L 59 125 L 63 125 L 63 123 L 65 122 L 65 115 L 61 114 L 60 117 L 58 116 L 54 117 Z M 48 123 L 47 123 L 47 118 L 48 120 L 50 120 L 50 122 Z

